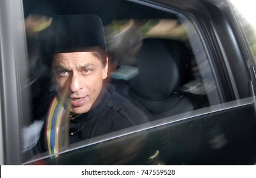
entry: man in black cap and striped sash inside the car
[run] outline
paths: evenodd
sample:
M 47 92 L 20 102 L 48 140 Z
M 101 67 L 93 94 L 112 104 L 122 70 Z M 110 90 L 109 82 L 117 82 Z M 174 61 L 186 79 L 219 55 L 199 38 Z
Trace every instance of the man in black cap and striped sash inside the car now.
M 64 15 L 39 35 L 55 86 L 40 147 L 57 154 L 68 144 L 149 121 L 133 100 L 104 83 L 109 59 L 101 19 Z M 50 103 L 50 102 L 42 102 Z

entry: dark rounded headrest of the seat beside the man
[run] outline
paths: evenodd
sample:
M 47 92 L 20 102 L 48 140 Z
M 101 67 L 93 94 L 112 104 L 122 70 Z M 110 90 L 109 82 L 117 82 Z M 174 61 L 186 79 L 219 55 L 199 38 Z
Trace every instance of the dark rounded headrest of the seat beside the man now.
M 176 60 L 160 39 L 145 39 L 135 61 L 139 74 L 129 81 L 129 86 L 141 98 L 165 100 L 180 85 Z

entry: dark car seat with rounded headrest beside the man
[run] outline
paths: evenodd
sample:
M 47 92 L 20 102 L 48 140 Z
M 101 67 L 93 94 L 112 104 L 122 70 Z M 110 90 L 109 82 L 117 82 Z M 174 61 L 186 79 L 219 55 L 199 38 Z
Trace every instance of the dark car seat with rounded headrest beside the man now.
M 154 119 L 192 111 L 201 101 L 178 88 L 191 79 L 190 55 L 184 43 L 168 39 L 145 39 L 133 62 L 138 74 L 119 90 L 132 97 Z

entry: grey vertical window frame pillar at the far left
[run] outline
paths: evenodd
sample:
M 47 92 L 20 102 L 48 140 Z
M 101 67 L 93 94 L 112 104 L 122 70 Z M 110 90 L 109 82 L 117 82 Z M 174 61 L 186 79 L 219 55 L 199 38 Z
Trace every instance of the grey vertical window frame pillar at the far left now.
M 21 126 L 29 118 L 27 49 L 22 1 L 0 2 L 1 117 L 5 165 L 20 165 Z

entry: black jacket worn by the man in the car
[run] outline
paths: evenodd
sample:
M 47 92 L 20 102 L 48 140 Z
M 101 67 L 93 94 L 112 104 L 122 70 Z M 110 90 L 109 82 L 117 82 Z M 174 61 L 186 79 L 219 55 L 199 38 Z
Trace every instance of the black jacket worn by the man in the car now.
M 103 85 L 90 111 L 73 116 L 73 118 L 69 123 L 69 144 L 151 120 L 150 114 L 137 102 L 120 95 L 115 86 L 107 84 Z M 38 144 L 40 152 L 46 151 L 45 132 L 44 125 Z

